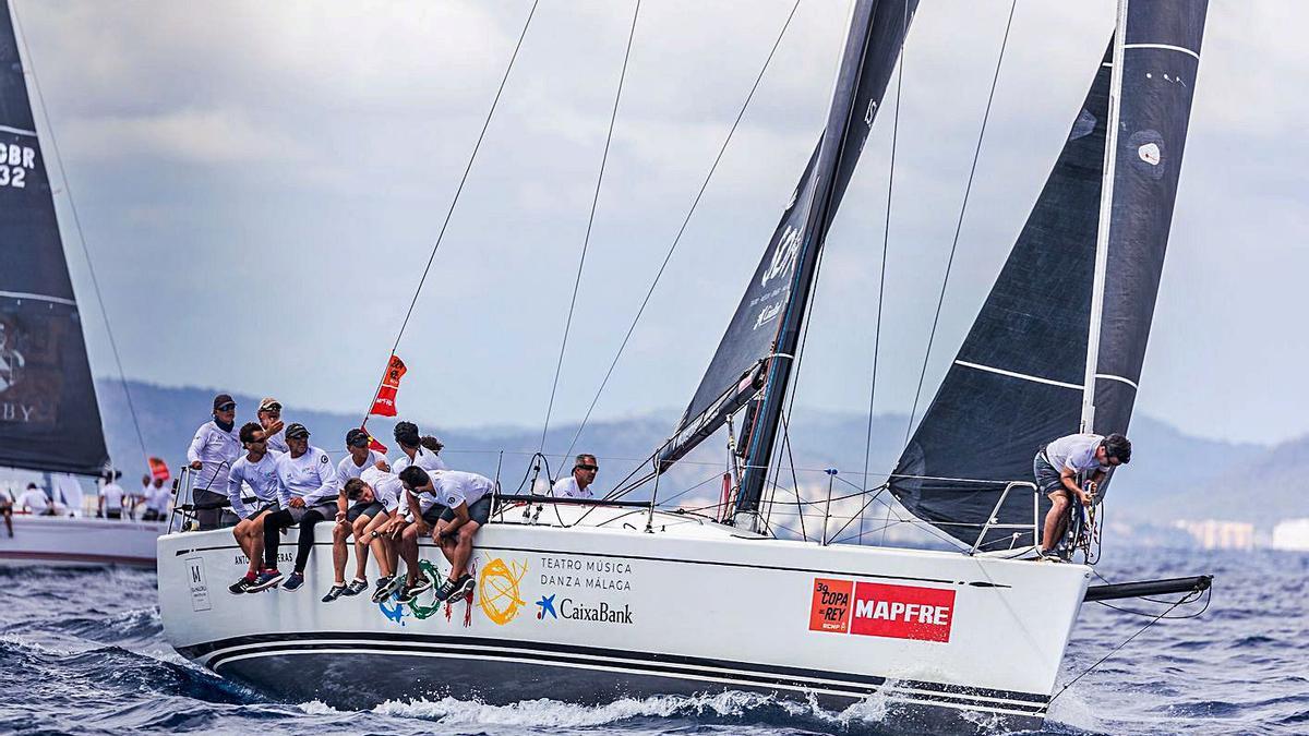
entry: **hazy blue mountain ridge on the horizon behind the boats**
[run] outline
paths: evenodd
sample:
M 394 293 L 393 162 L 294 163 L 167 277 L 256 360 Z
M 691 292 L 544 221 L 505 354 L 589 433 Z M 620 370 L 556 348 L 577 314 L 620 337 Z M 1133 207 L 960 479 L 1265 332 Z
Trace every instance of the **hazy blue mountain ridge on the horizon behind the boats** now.
M 165 458 L 171 466 L 185 460 L 195 428 L 209 418 L 212 389 L 164 388 L 131 381 L 132 399 L 137 409 L 147 452 Z M 98 386 L 109 445 L 124 474 L 144 471 L 136 433 L 127 411 L 123 389 L 117 381 Z M 234 396 L 238 422 L 254 418 L 259 398 Z M 313 443 L 329 452 L 344 449 L 346 432 L 359 426 L 357 415 L 287 407 L 284 420 L 301 422 L 313 432 Z M 541 432 L 529 427 L 442 427 L 415 419 L 427 433 L 445 443 L 442 456 L 454 466 L 495 475 L 499 468 L 501 486 L 513 490 L 530 474 L 530 460 L 541 443 Z M 588 424 L 572 448 L 573 453 L 590 452 L 600 457 L 601 490 L 617 486 L 628 471 L 649 470 L 647 454 L 658 447 L 677 420 L 675 411 L 647 414 L 627 419 L 610 419 Z M 873 486 L 899 456 L 907 418 L 898 414 L 880 415 L 873 422 L 873 443 L 868 457 L 869 482 Z M 394 423 L 374 418 L 369 427 L 377 437 L 391 441 Z M 825 491 L 823 469 L 838 469 L 835 495 L 861 486 L 864 440 L 868 416 L 797 409 L 791 426 L 791 456 L 798 469 L 796 481 L 810 498 Z M 562 457 L 573 445 L 576 426 L 559 426 L 546 437 L 550 471 L 567 473 L 571 462 Z M 677 465 L 661 481 L 660 498 L 686 492 L 683 499 L 716 499 L 725 470 L 725 433 L 711 437 Z M 1135 452 L 1130 466 L 1118 473 L 1110 491 L 1107 513 L 1117 520 L 1169 523 L 1173 519 L 1217 517 L 1267 521 L 1274 517 L 1309 515 L 1305 509 L 1305 482 L 1309 477 L 1309 439 L 1278 448 L 1223 443 L 1192 437 L 1174 427 L 1138 416 L 1131 437 Z M 503 456 L 501 456 L 503 452 Z M 645 458 L 643 461 L 643 458 Z M 545 473 L 545 468 L 542 468 Z M 780 478 L 791 486 L 789 466 Z M 1215 483 L 1215 478 L 1219 481 Z M 850 485 L 847 485 L 847 482 Z M 851 486 L 852 485 L 852 486 Z M 1258 488 L 1255 495 L 1254 488 Z M 1258 503 L 1250 503 L 1257 499 Z M 1278 500 L 1274 500 L 1278 499 Z M 780 506 L 780 502 L 779 502 Z M 1287 509 L 1299 508 L 1299 512 Z

